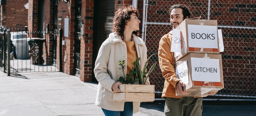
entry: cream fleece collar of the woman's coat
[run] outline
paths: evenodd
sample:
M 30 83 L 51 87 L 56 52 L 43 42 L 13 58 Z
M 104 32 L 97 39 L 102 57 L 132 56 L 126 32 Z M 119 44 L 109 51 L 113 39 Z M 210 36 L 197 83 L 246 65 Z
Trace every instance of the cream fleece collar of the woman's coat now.
M 122 42 L 123 41 L 121 39 L 121 36 L 117 35 L 116 32 L 110 33 L 109 38 L 111 38 L 110 39 L 111 43 L 116 43 L 116 42 Z M 135 34 L 132 34 L 132 38 L 133 38 L 133 41 L 134 41 L 135 44 L 145 45 L 144 41 L 140 37 L 136 36 Z

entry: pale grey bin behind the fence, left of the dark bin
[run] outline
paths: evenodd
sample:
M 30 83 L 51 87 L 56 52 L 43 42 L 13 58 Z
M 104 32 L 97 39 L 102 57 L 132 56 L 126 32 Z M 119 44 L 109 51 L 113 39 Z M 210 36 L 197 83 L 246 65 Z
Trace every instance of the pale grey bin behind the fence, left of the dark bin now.
M 29 39 L 29 35 L 25 31 L 11 32 L 13 55 L 16 59 L 29 58 L 29 44 L 27 39 Z

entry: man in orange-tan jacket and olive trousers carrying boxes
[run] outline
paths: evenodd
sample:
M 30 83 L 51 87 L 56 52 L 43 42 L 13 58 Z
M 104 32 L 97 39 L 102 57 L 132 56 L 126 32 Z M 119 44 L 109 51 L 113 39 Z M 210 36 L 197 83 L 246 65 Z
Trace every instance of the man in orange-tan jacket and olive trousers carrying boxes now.
M 171 25 L 175 29 L 185 19 L 192 15 L 189 9 L 181 4 L 171 6 L 170 10 Z M 182 85 L 185 85 L 177 78 L 174 68 L 174 52 L 171 52 L 172 31 L 165 34 L 160 42 L 158 49 L 158 58 L 163 77 L 166 79 L 164 83 L 162 98 L 165 102 L 166 116 L 201 116 L 202 115 L 202 97 L 181 97 L 176 96 L 175 89 L 180 94 L 184 94 Z M 209 93 L 214 95 L 216 92 Z

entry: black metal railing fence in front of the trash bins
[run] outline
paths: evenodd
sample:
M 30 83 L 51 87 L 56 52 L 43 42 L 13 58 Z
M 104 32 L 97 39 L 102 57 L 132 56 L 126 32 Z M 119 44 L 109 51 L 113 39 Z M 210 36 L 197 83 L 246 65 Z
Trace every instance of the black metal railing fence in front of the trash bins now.
M 3 38 L 5 33 L 0 31 L 0 66 L 2 66 L 1 61 L 4 61 L 4 65 L 9 62 L 10 68 L 8 69 L 7 67 L 5 70 L 9 70 L 14 75 L 18 72 L 59 71 L 56 69 L 56 46 L 52 44 L 56 44 L 53 41 L 56 40 L 58 34 L 62 34 L 60 33 L 62 31 L 28 31 L 27 28 L 13 28 L 9 31 L 12 32 L 7 38 Z M 43 38 L 36 37 L 38 35 L 43 35 Z M 3 40 L 10 40 L 10 45 L 8 46 L 7 42 Z M 47 44 L 46 41 L 52 42 Z M 7 48 L 10 49 L 9 52 L 7 52 Z M 9 61 L 8 58 L 5 58 L 8 55 L 3 54 L 5 53 L 4 51 L 7 54 L 9 53 Z

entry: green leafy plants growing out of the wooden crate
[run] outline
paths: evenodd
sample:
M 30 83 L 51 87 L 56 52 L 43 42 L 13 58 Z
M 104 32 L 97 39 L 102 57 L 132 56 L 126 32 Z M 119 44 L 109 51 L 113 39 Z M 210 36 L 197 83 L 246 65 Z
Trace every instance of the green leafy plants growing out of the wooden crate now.
M 155 53 L 156 54 L 156 53 Z M 124 74 L 124 69 L 126 68 L 124 66 L 124 63 L 125 61 L 118 61 L 120 64 L 120 66 L 122 66 L 122 70 L 123 70 L 123 75 L 125 77 L 120 77 L 119 78 L 119 81 L 122 83 L 122 84 L 136 84 L 136 83 L 139 83 L 140 85 L 145 85 L 147 79 L 148 79 L 148 76 L 150 75 L 150 73 L 153 71 L 153 69 L 155 68 L 156 66 L 156 63 L 154 63 L 150 69 L 149 69 L 149 72 L 146 71 L 146 68 L 147 68 L 147 64 L 148 64 L 148 61 L 149 59 L 155 55 L 155 54 L 152 54 L 148 59 L 147 61 L 145 62 L 144 64 L 144 68 L 143 70 L 141 71 L 141 67 L 139 65 L 139 61 L 140 61 L 140 58 L 136 58 L 136 60 L 133 62 L 133 66 L 135 68 L 132 67 L 132 71 L 129 72 L 129 74 Z M 136 74 L 136 75 L 135 75 Z M 134 76 L 135 75 L 135 76 Z

